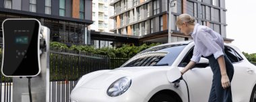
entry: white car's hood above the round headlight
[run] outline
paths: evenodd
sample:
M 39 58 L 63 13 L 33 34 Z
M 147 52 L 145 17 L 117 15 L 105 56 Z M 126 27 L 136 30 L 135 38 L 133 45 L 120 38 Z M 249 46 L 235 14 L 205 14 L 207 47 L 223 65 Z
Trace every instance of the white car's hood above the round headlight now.
M 121 77 L 130 77 L 131 79 L 135 79 L 143 74 L 168 69 L 170 69 L 170 66 L 136 66 L 105 70 L 103 72 L 98 72 L 98 74 L 88 74 L 88 77 L 90 76 L 90 78 L 83 79 L 80 87 L 90 89 L 107 89 L 112 83 Z

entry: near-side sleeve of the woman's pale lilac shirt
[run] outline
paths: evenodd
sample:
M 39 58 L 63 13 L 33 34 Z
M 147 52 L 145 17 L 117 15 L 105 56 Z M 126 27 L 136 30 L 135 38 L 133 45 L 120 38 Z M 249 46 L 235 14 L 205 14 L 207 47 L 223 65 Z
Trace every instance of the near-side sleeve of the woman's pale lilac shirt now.
M 222 48 L 214 42 L 212 38 L 210 38 L 210 34 L 205 32 L 204 30 L 199 30 L 198 38 L 201 40 L 203 45 L 214 54 L 214 58 L 219 58 L 220 56 L 224 55 Z

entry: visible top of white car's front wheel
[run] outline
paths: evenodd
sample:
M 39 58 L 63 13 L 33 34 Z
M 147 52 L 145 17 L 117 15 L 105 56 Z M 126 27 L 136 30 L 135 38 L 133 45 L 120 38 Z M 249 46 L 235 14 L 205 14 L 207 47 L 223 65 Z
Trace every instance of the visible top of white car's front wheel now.
M 149 102 L 176 102 L 177 100 L 166 94 L 159 94 L 150 99 Z

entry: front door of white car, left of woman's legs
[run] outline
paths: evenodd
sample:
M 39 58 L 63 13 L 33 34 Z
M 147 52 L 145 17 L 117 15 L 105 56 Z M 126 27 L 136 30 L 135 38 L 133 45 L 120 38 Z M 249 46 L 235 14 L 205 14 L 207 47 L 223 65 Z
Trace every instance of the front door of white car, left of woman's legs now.
M 193 48 L 187 53 L 185 58 L 179 64 L 180 68 L 184 68 L 193 56 Z M 201 58 L 201 60 L 207 60 Z M 193 102 L 208 101 L 210 89 L 212 86 L 212 70 L 209 63 L 199 63 L 188 70 L 184 75 L 189 86 L 190 100 Z

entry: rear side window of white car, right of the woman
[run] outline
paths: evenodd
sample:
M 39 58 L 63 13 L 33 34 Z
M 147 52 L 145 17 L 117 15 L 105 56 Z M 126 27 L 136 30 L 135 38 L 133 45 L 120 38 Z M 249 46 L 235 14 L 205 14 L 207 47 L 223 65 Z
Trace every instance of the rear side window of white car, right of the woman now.
M 241 60 L 243 60 L 243 58 L 229 46 L 225 46 L 224 52 L 232 63 L 240 62 Z

